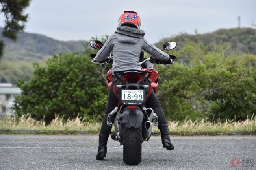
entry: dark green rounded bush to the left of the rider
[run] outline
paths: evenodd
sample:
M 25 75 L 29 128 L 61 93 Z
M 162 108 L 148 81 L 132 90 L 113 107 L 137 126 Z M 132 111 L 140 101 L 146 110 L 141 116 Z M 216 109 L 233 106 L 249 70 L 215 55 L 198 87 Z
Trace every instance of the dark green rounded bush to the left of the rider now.
M 34 64 L 30 81 L 17 82 L 22 90 L 15 98 L 18 115 L 30 113 L 37 120 L 50 122 L 55 115 L 64 119 L 79 115 L 89 121 L 104 114 L 106 82 L 89 56 L 78 52 L 54 54 L 46 65 Z

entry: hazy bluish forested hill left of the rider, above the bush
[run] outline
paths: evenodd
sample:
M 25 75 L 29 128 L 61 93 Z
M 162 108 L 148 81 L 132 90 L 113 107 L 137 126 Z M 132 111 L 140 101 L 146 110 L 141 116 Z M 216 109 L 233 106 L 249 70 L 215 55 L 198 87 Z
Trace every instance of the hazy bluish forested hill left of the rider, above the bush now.
M 84 41 L 59 41 L 45 35 L 35 33 L 18 33 L 18 40 L 13 42 L 2 37 L 3 28 L 0 27 L 0 40 L 4 40 L 4 57 L 2 60 L 40 61 L 51 57 L 52 53 L 65 51 L 83 51 Z

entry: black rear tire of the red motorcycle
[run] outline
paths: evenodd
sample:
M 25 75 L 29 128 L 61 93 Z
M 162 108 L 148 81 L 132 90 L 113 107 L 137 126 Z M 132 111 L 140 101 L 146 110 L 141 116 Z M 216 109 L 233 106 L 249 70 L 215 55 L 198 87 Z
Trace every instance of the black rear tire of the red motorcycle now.
M 142 130 L 139 128 L 123 128 L 123 160 L 128 165 L 137 165 L 141 162 Z

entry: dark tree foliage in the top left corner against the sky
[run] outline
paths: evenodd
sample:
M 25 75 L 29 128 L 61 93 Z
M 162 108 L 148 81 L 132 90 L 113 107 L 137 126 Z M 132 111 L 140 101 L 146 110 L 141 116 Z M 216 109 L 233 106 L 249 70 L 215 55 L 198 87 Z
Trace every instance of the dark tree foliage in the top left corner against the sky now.
M 4 13 L 5 26 L 2 32 L 3 37 L 17 40 L 17 33 L 23 31 L 28 14 L 24 14 L 24 9 L 30 5 L 31 0 L 0 0 L 2 9 L 0 13 Z M 4 53 L 4 42 L 0 40 L 0 59 Z

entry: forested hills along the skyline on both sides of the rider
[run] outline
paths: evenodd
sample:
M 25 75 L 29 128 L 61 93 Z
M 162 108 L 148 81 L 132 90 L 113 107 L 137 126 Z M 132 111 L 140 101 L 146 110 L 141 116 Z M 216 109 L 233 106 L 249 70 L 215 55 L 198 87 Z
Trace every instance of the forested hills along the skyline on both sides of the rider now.
M 2 28 L 0 28 L 2 33 Z M 230 51 L 236 53 L 256 54 L 256 29 L 252 28 L 234 28 L 219 29 L 212 33 L 198 34 L 204 44 L 226 44 Z M 179 47 L 182 47 L 189 38 L 195 42 L 198 41 L 198 35 L 188 35 L 182 33 L 173 38 Z M 84 41 L 59 41 L 50 37 L 34 33 L 19 33 L 18 40 L 13 42 L 0 35 L 0 39 L 6 44 L 4 49 L 3 60 L 24 60 L 24 61 L 41 61 L 51 57 L 53 52 L 59 53 L 64 51 L 83 51 Z M 167 37 L 167 39 L 169 39 Z M 156 46 L 161 47 L 163 41 Z

